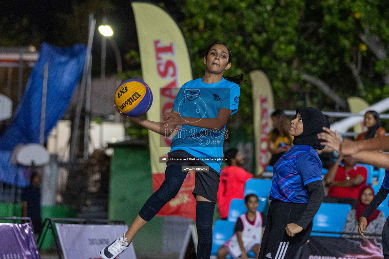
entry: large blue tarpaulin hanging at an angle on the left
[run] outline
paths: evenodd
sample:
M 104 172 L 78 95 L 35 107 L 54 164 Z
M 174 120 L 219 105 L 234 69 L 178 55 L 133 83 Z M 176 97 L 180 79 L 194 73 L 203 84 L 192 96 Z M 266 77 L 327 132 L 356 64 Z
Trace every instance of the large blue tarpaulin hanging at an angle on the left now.
M 23 95 L 8 129 L 0 136 L 0 181 L 19 186 L 29 179 L 16 177 L 23 169 L 11 164 L 11 152 L 18 144 L 39 143 L 40 113 L 44 65 L 48 63 L 47 100 L 44 141 L 65 114 L 72 94 L 80 82 L 84 68 L 86 45 L 60 48 L 42 43 L 39 59 L 35 63 Z

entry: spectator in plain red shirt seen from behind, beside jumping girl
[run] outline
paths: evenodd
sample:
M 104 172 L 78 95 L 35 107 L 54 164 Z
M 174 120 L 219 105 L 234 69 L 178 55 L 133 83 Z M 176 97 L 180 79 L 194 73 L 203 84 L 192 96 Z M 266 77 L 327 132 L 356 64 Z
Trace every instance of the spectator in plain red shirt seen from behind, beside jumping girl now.
M 224 153 L 229 157 L 228 166 L 221 169 L 219 191 L 217 191 L 217 205 L 221 219 L 227 219 L 228 209 L 232 199 L 243 199 L 244 186 L 252 174 L 242 168 L 243 156 L 236 148 L 230 148 Z

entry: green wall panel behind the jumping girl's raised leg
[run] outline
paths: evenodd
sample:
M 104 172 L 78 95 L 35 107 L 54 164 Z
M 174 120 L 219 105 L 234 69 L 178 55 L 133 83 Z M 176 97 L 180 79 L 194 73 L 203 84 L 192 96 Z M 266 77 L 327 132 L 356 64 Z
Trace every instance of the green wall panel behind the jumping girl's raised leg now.
M 115 147 L 111 159 L 108 217 L 128 226 L 152 195 L 149 148 Z M 162 217 L 154 217 L 134 237 L 137 254 L 155 254 L 162 249 Z

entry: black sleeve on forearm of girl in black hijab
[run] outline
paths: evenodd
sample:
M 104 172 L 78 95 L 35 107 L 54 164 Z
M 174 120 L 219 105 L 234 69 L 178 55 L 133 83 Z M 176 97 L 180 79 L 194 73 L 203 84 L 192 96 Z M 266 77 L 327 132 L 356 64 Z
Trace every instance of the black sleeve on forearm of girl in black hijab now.
M 296 223 L 301 228 L 307 228 L 308 224 L 314 218 L 317 210 L 319 210 L 320 205 L 324 198 L 324 188 L 321 180 L 308 183 L 308 194 L 310 196 L 307 207 L 300 220 Z

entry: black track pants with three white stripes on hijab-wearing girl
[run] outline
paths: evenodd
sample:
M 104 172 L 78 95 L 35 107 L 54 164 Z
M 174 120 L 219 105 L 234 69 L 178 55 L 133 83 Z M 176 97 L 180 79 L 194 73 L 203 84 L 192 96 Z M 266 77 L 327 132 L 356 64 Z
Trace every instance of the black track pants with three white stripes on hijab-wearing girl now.
M 312 222 L 293 237 L 286 234 L 289 223 L 297 223 L 307 207 L 306 203 L 291 203 L 272 200 L 262 237 L 259 259 L 293 259 L 301 245 L 307 242 L 312 231 Z

